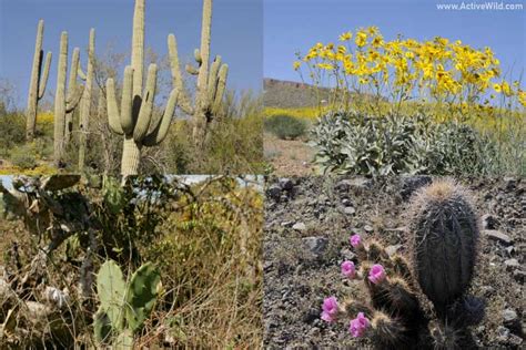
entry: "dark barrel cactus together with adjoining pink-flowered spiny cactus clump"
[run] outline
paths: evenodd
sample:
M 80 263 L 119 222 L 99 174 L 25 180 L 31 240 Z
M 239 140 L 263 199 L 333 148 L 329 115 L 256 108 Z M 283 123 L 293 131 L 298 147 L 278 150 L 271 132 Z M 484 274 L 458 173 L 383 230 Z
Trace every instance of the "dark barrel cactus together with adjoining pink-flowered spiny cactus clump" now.
M 357 261 L 344 261 L 342 275 L 362 280 L 371 300 L 338 302 L 328 297 L 322 319 L 351 319 L 350 333 L 370 337 L 380 349 L 473 347 L 467 328 L 482 321 L 484 302 L 466 295 L 478 239 L 477 218 L 467 198 L 449 181 L 434 183 L 412 198 L 408 260 L 390 256 L 376 240 L 363 243 L 353 235 Z

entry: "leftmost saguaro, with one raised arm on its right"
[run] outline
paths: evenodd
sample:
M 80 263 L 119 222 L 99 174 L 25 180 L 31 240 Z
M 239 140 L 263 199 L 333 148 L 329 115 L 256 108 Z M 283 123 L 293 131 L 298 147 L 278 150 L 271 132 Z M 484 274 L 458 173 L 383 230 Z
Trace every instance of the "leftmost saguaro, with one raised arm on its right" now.
M 48 84 L 49 69 L 51 66 L 51 52 L 48 52 L 45 55 L 45 63 L 42 70 L 43 63 L 43 31 L 44 22 L 43 20 L 39 21 L 37 29 L 37 41 L 34 43 L 34 56 L 33 65 L 31 70 L 31 82 L 29 85 L 29 95 L 28 95 L 28 109 L 26 112 L 26 138 L 32 141 L 34 137 L 34 130 L 37 125 L 37 112 L 39 101 L 43 97 L 45 92 L 45 85 Z

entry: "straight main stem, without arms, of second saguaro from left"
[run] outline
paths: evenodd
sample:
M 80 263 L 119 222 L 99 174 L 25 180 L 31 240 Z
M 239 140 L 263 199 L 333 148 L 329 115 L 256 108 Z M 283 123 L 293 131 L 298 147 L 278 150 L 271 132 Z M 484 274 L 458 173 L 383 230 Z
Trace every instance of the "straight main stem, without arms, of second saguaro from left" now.
M 59 68 L 57 72 L 57 91 L 54 94 L 54 163 L 61 166 L 64 147 L 65 127 L 65 74 L 68 70 L 68 32 L 60 37 Z

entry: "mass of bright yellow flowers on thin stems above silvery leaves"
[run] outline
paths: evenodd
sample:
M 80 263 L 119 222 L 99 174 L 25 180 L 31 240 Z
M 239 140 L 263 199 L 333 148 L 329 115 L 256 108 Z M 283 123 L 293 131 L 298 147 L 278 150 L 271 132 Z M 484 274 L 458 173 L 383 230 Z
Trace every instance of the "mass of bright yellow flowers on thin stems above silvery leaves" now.
M 373 109 L 386 99 L 398 112 L 406 101 L 432 103 L 453 112 L 447 115 L 461 116 L 497 96 L 526 105 L 519 83 L 502 78 L 500 62 L 489 48 L 476 50 L 459 40 L 398 35 L 385 41 L 376 27 L 370 27 L 341 34 L 337 43 L 318 42 L 297 58 L 296 71 L 302 74 L 306 66 L 314 85 L 333 86 L 331 105 L 337 109 L 351 106 L 352 92 L 375 96 L 368 100 Z

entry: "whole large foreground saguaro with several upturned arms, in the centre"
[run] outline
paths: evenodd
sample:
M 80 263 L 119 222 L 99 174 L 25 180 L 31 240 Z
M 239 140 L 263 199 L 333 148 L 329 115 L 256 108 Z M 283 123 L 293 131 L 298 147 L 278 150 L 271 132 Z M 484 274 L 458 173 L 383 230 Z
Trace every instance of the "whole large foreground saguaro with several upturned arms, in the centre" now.
M 113 79 L 107 82 L 108 119 L 110 128 L 124 135 L 121 175 L 136 175 L 143 146 L 161 143 L 168 134 L 173 112 L 178 103 L 179 91 L 173 89 L 163 116 L 153 123 L 153 100 L 158 66 L 150 64 L 146 86 L 142 91 L 144 65 L 144 0 L 135 1 L 132 39 L 132 64 L 124 70 L 121 109 L 119 110 Z

